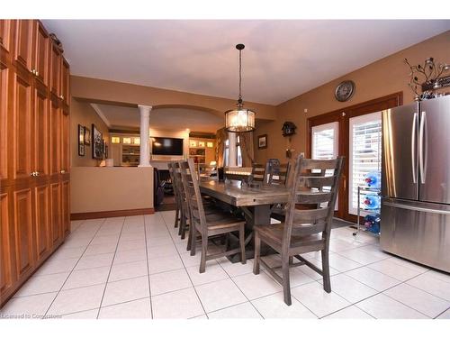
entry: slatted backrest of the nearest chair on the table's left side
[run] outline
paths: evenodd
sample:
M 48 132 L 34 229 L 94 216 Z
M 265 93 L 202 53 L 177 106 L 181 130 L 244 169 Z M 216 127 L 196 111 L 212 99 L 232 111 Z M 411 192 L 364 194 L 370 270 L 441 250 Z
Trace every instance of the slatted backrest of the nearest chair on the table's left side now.
M 186 201 L 189 210 L 191 211 L 191 226 L 194 226 L 202 233 L 202 235 L 207 237 L 208 228 L 206 226 L 206 217 L 202 204 L 202 194 L 200 193 L 200 187 L 197 175 L 195 173 L 193 160 L 182 160 L 178 163 L 181 169 L 181 176 L 183 178 Z

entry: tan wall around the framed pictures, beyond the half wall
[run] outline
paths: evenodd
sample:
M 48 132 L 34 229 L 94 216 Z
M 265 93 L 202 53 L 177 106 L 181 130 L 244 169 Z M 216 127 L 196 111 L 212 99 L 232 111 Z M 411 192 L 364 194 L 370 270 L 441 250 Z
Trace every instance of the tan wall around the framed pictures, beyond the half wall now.
M 85 145 L 85 156 L 78 156 L 78 124 L 84 125 L 91 130 L 92 123 L 103 133 L 103 139 L 109 144 L 108 127 L 94 108 L 86 102 L 72 98 L 70 103 L 70 154 L 71 167 L 94 167 L 98 166 L 100 160 L 92 158 L 92 140 L 90 145 Z

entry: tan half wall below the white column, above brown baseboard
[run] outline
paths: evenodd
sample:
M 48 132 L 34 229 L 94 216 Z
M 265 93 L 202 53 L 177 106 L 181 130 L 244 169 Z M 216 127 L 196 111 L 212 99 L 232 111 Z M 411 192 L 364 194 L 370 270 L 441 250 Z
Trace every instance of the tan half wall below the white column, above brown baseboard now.
M 72 214 L 153 207 L 151 167 L 76 167 L 70 176 Z

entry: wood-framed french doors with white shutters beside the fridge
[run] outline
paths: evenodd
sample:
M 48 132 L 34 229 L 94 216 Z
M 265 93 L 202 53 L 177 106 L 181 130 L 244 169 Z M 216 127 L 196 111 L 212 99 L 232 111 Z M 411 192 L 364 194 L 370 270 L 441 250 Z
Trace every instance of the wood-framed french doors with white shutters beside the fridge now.
M 365 174 L 381 169 L 381 112 L 398 105 L 402 93 L 308 119 L 308 157 L 344 156 L 335 216 L 356 222 L 357 187 L 365 184 Z

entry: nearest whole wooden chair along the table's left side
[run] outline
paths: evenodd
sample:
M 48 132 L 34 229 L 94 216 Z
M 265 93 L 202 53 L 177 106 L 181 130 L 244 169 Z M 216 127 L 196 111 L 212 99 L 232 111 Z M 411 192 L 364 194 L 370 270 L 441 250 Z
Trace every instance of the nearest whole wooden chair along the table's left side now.
M 200 193 L 199 180 L 195 175 L 193 160 L 184 160 L 179 162 L 185 195 L 191 213 L 190 229 L 190 248 L 191 255 L 195 255 L 195 243 L 197 234 L 200 234 L 202 242 L 202 257 L 200 260 L 200 273 L 206 269 L 206 260 L 214 260 L 219 257 L 229 256 L 240 252 L 242 264 L 246 264 L 245 249 L 245 220 L 236 215 L 224 212 L 220 209 L 210 210 L 205 213 L 202 195 Z M 229 235 L 229 233 L 238 232 L 239 247 L 236 249 L 225 250 L 219 253 L 208 254 L 208 239 L 216 235 Z

